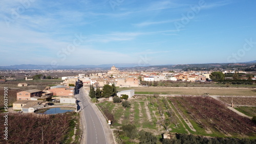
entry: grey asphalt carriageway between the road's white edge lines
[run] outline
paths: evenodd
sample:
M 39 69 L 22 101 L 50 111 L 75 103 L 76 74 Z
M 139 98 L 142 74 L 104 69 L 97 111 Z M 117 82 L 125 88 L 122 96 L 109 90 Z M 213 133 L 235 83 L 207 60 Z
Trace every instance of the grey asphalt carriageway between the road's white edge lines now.
M 83 137 L 81 143 L 108 143 L 102 122 L 92 107 L 91 100 L 88 98 L 83 88 L 80 88 L 79 94 L 76 95 L 78 101 L 78 109 L 81 109 L 81 126 Z M 85 121 L 84 121 L 85 119 Z M 84 125 L 85 123 L 85 125 Z

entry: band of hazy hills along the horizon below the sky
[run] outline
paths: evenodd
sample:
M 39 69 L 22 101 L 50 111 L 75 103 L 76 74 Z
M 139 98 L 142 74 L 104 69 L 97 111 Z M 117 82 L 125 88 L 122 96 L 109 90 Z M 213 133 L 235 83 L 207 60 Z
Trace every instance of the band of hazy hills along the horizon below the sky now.
M 234 67 L 251 67 L 256 64 L 256 60 L 241 63 L 202 63 L 202 64 L 165 64 L 165 65 L 150 65 L 137 63 L 114 63 L 101 65 L 35 65 L 35 64 L 20 64 L 11 66 L 0 66 L 0 69 L 109 69 L 113 65 L 120 69 L 183 69 L 183 70 L 209 70 L 213 68 L 234 68 Z

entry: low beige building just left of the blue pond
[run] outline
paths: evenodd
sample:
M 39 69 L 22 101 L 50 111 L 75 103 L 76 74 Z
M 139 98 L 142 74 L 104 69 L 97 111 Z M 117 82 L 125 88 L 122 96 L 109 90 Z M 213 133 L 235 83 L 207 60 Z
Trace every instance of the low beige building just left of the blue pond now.
M 18 100 L 13 103 L 13 110 L 23 110 L 23 107 L 29 108 L 41 104 L 42 101 Z

